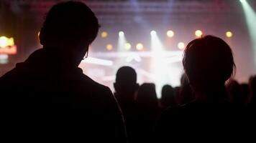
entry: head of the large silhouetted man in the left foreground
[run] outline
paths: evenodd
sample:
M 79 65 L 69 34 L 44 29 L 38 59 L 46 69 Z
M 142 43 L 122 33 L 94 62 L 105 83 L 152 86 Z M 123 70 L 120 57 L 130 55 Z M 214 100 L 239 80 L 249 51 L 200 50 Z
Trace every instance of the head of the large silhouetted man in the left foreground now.
M 81 60 L 98 31 L 98 19 L 86 4 L 61 2 L 48 11 L 40 31 L 40 43 Z

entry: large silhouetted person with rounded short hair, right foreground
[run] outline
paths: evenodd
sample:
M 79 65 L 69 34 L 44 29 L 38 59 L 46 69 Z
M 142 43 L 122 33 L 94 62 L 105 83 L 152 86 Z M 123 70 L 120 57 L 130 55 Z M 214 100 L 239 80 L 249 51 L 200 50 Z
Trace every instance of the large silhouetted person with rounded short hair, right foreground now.
M 235 67 L 228 44 L 215 36 L 191 41 L 184 51 L 183 67 L 196 98 L 160 115 L 155 127 L 157 139 L 170 142 L 189 137 L 193 142 L 222 139 L 228 137 L 227 133 L 234 139 L 234 134 L 242 134 L 238 126 L 246 122 L 240 117 L 248 118 L 242 116 L 242 108 L 227 102 L 225 82 L 232 77 Z

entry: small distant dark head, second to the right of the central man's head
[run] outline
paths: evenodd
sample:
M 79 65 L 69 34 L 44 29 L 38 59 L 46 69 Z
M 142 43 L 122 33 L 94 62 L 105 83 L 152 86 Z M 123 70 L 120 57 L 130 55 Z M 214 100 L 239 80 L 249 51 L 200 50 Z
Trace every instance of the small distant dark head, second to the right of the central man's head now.
M 162 88 L 161 107 L 166 109 L 167 107 L 176 107 L 176 97 L 172 86 L 166 84 Z

